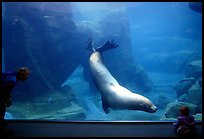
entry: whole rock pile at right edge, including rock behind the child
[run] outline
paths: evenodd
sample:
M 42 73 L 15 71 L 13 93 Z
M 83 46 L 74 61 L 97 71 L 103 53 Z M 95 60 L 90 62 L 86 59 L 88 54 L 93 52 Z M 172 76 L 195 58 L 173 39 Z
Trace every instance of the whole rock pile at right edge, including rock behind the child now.
M 170 102 L 166 107 L 166 117 L 178 117 L 178 108 L 188 106 L 191 114 L 202 113 L 202 61 L 190 61 L 186 69 L 186 77 L 175 85 L 177 102 Z

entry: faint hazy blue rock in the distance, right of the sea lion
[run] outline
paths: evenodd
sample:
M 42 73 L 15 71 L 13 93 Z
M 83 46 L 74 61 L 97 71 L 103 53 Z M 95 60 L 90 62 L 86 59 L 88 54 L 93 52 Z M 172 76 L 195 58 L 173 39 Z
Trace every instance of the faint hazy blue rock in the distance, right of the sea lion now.
M 156 48 L 155 48 L 156 49 Z M 148 52 L 148 50 L 146 50 Z M 145 52 L 143 52 L 145 53 Z M 151 52 L 142 55 L 141 62 L 146 63 L 146 69 L 156 69 L 157 72 L 183 72 L 190 60 L 198 55 L 196 51 L 180 50 L 176 52 Z M 169 66 L 174 65 L 174 66 Z M 158 69 L 158 67 L 160 67 Z

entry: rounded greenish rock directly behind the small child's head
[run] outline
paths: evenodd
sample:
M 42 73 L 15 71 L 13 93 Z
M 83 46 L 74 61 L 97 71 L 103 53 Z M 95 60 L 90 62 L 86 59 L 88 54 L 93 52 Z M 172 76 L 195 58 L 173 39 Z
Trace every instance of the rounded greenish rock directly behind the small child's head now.
M 186 102 L 171 102 L 167 104 L 166 110 L 165 110 L 165 116 L 166 118 L 177 118 L 179 116 L 178 109 L 181 106 L 188 106 L 190 109 L 190 114 L 195 115 L 198 113 L 198 107 L 192 103 L 186 103 Z

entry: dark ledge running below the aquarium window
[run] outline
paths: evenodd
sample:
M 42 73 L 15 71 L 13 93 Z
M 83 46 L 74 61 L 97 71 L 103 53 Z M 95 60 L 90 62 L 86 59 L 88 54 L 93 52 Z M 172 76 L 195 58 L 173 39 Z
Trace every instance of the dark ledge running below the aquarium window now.
M 7 120 L 9 137 L 176 137 L 172 122 Z M 202 122 L 197 122 L 202 137 Z

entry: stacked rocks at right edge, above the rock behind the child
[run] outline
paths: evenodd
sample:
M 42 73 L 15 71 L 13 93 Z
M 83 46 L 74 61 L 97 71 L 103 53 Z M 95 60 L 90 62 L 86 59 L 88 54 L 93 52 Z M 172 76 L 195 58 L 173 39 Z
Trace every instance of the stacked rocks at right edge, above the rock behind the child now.
M 202 61 L 189 62 L 186 77 L 175 85 L 179 102 L 194 104 L 202 112 Z

